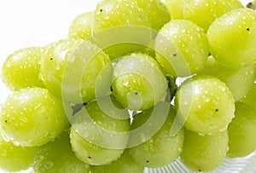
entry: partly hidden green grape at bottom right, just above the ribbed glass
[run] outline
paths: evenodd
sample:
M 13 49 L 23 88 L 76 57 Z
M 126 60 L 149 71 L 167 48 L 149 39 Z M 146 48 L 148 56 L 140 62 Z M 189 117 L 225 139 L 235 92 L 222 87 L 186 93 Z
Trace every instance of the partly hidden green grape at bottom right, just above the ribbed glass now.
M 200 136 L 186 130 L 181 159 L 191 170 L 205 172 L 217 168 L 224 161 L 228 150 L 227 130 L 212 136 Z

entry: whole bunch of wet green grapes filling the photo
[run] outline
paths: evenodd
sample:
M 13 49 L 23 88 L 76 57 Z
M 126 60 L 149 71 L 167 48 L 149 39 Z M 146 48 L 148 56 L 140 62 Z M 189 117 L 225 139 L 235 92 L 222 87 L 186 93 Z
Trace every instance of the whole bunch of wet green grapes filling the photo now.
M 238 0 L 102 0 L 68 37 L 15 51 L 0 167 L 214 170 L 256 149 L 256 12 Z

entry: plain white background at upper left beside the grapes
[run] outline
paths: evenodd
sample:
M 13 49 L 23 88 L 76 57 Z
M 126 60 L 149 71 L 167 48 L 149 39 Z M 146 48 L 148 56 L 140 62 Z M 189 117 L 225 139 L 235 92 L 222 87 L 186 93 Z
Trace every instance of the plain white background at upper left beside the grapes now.
M 98 1 L 0 0 L 0 68 L 8 55 L 17 49 L 44 46 L 67 37 L 73 19 L 93 11 Z M 1 103 L 9 91 L 1 78 L 0 81 Z

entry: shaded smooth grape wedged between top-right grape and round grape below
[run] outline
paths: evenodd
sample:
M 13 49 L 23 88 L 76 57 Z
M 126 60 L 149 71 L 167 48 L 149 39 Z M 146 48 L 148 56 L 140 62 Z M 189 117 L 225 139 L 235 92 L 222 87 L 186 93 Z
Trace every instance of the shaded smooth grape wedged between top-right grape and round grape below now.
M 222 80 L 231 90 L 235 101 L 240 100 L 253 87 L 255 66 L 246 66 L 238 70 L 221 66 L 210 56 L 199 74 L 211 75 Z

